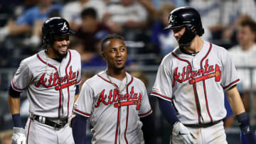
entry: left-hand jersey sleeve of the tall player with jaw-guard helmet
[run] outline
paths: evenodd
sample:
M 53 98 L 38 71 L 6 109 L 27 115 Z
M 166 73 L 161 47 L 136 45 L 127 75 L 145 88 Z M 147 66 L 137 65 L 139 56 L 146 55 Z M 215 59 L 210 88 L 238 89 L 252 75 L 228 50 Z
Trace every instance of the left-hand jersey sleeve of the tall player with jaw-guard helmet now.
M 151 95 L 158 96 L 161 99 L 171 101 L 172 95 L 172 84 L 171 84 L 171 74 L 169 70 L 166 69 L 163 62 L 159 66 L 159 69 L 156 74 L 156 79 L 154 86 L 152 88 Z

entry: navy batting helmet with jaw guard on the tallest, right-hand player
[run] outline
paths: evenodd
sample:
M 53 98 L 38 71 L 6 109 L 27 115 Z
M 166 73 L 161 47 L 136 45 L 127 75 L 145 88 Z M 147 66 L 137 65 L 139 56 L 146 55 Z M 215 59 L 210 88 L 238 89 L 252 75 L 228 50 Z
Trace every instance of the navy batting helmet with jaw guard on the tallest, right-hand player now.
M 178 42 L 181 45 L 188 45 L 196 35 L 201 36 L 204 33 L 200 14 L 196 9 L 189 6 L 179 7 L 171 11 L 169 15 L 169 24 L 164 30 L 180 26 L 186 27 L 186 32 L 183 37 L 184 39 L 181 39 L 181 41 Z

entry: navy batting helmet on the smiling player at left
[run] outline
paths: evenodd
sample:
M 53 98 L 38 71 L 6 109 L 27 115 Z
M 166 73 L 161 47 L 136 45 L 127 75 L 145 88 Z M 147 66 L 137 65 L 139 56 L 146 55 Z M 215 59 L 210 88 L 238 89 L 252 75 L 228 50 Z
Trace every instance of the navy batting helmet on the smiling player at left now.
M 54 35 L 69 35 L 71 33 L 74 32 L 70 31 L 68 21 L 66 21 L 64 18 L 49 18 L 43 23 L 42 27 L 43 45 L 52 45 Z

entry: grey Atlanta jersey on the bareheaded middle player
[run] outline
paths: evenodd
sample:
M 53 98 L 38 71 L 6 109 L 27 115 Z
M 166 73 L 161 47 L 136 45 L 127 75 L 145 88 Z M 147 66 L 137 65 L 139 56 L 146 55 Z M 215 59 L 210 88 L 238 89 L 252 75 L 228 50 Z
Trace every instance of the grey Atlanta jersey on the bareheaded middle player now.
M 90 117 L 93 144 L 144 143 L 139 118 L 148 116 L 151 106 L 143 82 L 126 74 L 120 81 L 102 71 L 82 85 L 74 112 Z

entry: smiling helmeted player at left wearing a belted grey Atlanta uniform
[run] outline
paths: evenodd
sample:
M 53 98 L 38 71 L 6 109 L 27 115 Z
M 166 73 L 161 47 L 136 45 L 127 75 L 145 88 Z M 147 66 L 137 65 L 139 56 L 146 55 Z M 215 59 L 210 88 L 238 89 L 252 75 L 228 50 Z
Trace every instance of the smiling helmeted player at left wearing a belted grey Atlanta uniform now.
M 68 50 L 68 21 L 49 18 L 42 27 L 43 47 L 21 61 L 9 88 L 14 121 L 12 143 L 74 143 L 68 126 L 81 79 L 80 55 Z M 26 131 L 20 118 L 20 93 L 26 89 L 30 116 Z

